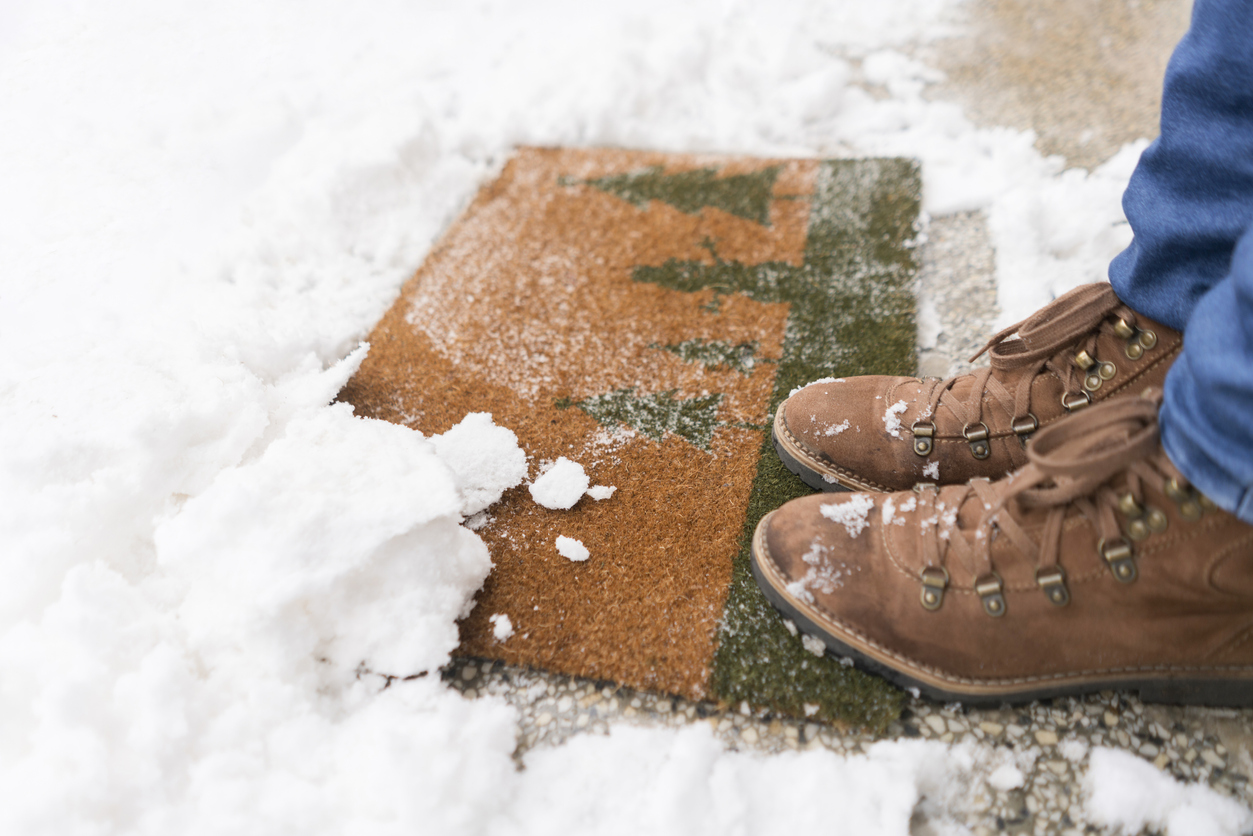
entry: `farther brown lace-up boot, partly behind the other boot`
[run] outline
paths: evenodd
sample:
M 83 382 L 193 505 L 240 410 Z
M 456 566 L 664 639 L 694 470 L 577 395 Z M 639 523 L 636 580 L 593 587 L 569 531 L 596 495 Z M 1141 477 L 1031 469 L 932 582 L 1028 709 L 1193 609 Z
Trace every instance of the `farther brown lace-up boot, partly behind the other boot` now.
M 979 352 L 991 365 L 974 374 L 870 375 L 793 392 L 774 416 L 774 449 L 821 490 L 999 479 L 1026 464 L 1037 429 L 1162 386 L 1182 347 L 1178 331 L 1136 316 L 1109 285 L 1084 285 L 992 337 Z

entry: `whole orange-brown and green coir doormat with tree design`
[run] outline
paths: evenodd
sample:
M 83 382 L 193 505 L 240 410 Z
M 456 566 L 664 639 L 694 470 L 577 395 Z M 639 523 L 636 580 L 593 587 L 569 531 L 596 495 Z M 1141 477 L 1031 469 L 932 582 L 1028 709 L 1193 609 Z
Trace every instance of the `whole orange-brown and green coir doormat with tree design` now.
M 871 728 L 897 714 L 898 692 L 776 615 L 748 539 L 808 493 L 771 446 L 778 402 L 913 372 L 918 189 L 902 159 L 516 153 L 341 394 L 429 435 L 491 412 L 533 479 L 564 456 L 616 489 L 550 510 L 524 485 L 479 520 L 495 568 L 461 654 Z

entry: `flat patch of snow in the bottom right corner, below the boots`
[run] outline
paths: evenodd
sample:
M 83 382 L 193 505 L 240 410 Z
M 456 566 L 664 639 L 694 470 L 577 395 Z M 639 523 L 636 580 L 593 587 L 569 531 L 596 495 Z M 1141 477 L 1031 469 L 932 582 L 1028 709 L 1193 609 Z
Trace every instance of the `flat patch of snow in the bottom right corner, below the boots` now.
M 1203 783 L 1182 783 L 1121 750 L 1093 750 L 1084 791 L 1089 818 L 1123 833 L 1238 836 L 1253 828 L 1253 811 L 1234 798 Z

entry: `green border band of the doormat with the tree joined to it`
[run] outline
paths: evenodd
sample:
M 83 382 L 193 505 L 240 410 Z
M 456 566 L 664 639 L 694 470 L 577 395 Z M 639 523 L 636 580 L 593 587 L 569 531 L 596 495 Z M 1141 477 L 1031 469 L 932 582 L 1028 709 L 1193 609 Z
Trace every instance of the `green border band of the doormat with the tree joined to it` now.
M 768 427 L 783 399 L 812 380 L 913 374 L 917 267 L 910 242 L 918 196 L 912 160 L 828 160 L 811 201 L 799 267 L 744 264 L 714 254 L 713 263 L 670 259 L 637 267 L 633 278 L 708 293 L 714 301 L 743 293 L 791 306 L 769 414 L 763 416 Z M 710 315 L 717 316 L 715 305 Z M 882 729 L 900 714 L 901 692 L 804 651 L 752 577 L 749 541 L 758 520 L 808 493 L 779 462 L 767 429 L 718 633 L 713 691 L 733 704 L 746 701 L 796 717 Z

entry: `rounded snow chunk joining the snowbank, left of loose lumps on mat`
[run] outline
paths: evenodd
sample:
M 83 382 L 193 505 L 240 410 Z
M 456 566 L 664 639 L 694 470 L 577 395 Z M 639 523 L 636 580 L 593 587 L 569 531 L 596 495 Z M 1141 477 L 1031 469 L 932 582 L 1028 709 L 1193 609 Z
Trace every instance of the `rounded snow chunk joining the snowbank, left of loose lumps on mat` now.
M 494 505 L 526 479 L 526 454 L 517 446 L 517 436 L 492 424 L 491 412 L 466 415 L 444 435 L 432 436 L 431 444 L 452 470 L 462 516 Z

